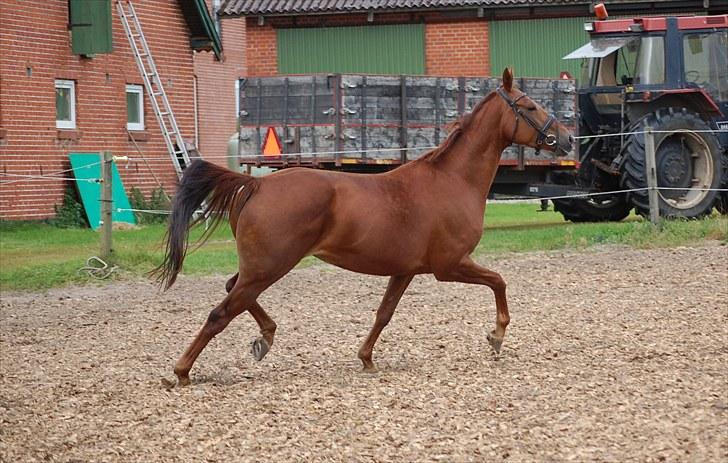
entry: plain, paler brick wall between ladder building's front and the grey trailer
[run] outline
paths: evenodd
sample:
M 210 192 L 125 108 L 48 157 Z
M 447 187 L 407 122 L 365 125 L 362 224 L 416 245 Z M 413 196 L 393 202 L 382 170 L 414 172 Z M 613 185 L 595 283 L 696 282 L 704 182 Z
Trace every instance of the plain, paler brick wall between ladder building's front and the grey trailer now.
M 228 139 L 237 131 L 235 81 L 245 76 L 245 21 L 223 20 L 220 35 L 223 62 L 212 52 L 195 53 L 194 58 L 200 121 L 198 147 L 206 160 L 227 166 Z

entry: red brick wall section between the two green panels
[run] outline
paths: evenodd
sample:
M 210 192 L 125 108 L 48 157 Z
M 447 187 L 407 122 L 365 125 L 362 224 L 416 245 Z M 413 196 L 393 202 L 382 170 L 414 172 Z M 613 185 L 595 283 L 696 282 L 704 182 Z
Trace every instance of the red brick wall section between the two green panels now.
M 425 73 L 487 76 L 490 73 L 486 21 L 425 25 Z

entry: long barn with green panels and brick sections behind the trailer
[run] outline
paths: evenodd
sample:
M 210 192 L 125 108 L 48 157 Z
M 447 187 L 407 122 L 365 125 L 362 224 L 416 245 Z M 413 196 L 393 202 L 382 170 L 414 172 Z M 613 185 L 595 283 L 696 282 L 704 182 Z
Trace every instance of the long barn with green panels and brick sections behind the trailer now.
M 248 76 L 303 73 L 578 74 L 561 58 L 587 40 L 590 0 L 223 0 L 246 24 Z M 611 15 L 717 14 L 726 0 L 612 0 Z M 238 19 L 239 18 L 239 19 Z M 383 37 L 388 38 L 386 41 Z

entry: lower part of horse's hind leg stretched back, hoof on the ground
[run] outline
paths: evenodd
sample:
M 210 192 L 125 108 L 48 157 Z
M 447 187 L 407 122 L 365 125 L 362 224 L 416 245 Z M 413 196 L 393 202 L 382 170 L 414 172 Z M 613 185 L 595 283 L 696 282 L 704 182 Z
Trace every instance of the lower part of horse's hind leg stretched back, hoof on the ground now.
M 207 343 L 224 330 L 233 318 L 240 315 L 246 307 L 252 306 L 258 294 L 260 292 L 236 285 L 225 299 L 210 312 L 202 329 L 174 366 L 174 374 L 177 375 L 180 386 L 190 383 L 189 373 L 192 365 Z

